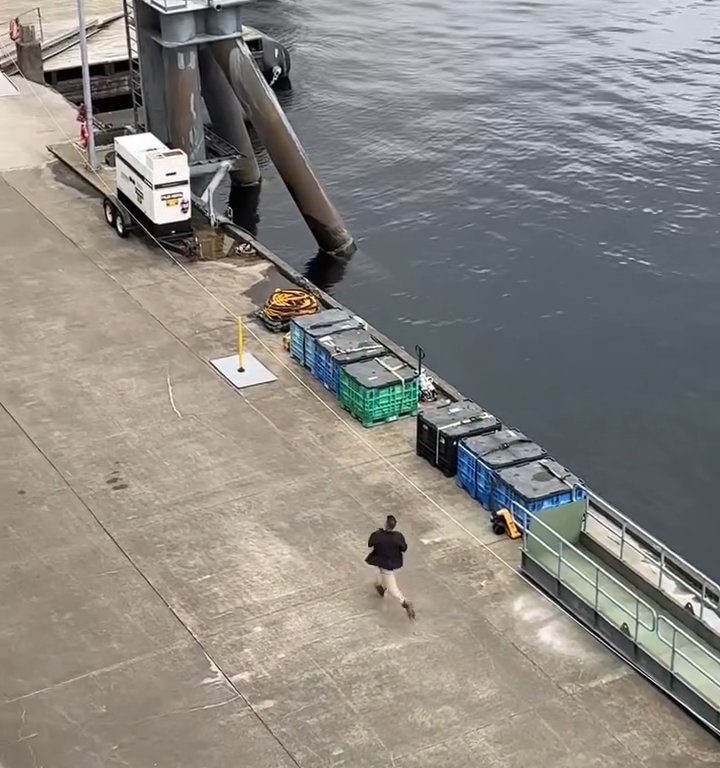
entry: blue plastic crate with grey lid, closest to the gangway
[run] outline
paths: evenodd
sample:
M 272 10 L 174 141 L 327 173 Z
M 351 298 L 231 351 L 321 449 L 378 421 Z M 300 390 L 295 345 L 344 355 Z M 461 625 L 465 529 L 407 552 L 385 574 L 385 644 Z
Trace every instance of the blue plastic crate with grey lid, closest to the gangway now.
M 509 509 L 520 525 L 532 513 L 587 497 L 582 482 L 553 459 L 507 467 L 497 472 L 490 509 Z

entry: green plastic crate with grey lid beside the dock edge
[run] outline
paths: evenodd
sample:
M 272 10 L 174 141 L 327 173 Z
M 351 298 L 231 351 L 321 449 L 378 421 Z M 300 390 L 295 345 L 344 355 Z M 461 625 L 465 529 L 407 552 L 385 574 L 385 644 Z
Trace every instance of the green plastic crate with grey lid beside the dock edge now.
M 417 371 L 394 355 L 340 369 L 340 404 L 365 427 L 417 413 L 419 395 Z

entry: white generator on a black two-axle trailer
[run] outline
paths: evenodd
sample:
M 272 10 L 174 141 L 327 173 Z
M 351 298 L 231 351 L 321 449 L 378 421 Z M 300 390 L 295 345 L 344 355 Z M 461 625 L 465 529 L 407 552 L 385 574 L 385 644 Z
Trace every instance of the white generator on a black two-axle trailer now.
M 166 147 L 152 133 L 116 137 L 115 188 L 103 209 L 120 237 L 139 228 L 162 246 L 192 255 L 190 167 L 181 149 Z

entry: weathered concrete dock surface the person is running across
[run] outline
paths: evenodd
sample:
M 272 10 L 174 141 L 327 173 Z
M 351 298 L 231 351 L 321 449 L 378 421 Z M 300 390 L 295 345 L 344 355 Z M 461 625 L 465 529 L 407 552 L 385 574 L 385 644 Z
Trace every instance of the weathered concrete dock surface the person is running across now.
M 0 98 L 1 768 L 720 766 L 412 421 L 349 422 L 252 322 L 277 381 L 228 385 L 208 361 L 283 278 L 119 240 L 44 150 L 75 133 Z M 390 512 L 415 623 L 363 564 Z

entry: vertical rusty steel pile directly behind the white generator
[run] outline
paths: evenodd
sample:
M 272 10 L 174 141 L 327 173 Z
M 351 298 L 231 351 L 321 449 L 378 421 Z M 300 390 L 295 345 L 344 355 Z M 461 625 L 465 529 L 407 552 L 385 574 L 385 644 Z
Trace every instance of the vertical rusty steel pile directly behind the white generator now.
M 160 17 L 164 43 L 184 43 L 196 35 L 192 12 Z M 182 149 L 190 162 L 205 159 L 205 128 L 200 109 L 200 66 L 196 45 L 163 48 L 165 104 L 170 144 Z

